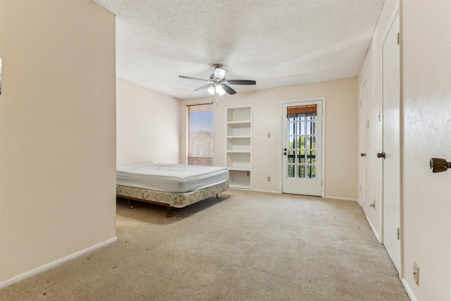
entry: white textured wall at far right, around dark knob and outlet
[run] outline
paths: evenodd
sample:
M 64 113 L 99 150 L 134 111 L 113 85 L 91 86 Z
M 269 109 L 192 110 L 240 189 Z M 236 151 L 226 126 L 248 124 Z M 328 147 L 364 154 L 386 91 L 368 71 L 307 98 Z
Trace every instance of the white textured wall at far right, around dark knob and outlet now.
M 402 1 L 404 283 L 416 300 L 450 300 L 451 1 Z M 419 285 L 412 264 L 419 265 Z

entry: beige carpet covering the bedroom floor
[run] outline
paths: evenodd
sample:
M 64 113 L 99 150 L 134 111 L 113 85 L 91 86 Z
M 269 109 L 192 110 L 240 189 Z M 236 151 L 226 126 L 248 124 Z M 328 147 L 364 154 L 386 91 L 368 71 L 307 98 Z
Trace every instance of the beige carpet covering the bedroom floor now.
M 409 300 L 357 202 L 229 190 L 166 209 L 117 203 L 118 242 L 0 300 Z

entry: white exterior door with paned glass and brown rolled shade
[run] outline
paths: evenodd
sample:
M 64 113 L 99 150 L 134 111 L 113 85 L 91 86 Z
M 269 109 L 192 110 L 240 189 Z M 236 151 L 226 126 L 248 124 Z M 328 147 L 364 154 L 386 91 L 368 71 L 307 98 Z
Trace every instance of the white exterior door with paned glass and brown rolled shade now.
M 322 101 L 283 105 L 282 192 L 321 196 Z

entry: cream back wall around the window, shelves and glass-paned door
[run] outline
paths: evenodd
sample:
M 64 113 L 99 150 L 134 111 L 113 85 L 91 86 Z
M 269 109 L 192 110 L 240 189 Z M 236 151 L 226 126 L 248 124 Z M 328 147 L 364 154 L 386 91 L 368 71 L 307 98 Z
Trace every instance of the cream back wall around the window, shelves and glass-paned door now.
M 215 102 L 214 105 L 214 165 L 226 165 L 226 107 L 253 106 L 252 189 L 281 192 L 282 102 L 326 97 L 326 171 L 325 195 L 357 199 L 358 100 L 357 78 L 347 78 L 311 85 L 298 85 L 223 97 L 187 99 L 180 104 Z M 186 114 L 182 114 L 186 118 Z M 182 119 L 182 125 L 185 125 Z M 181 133 L 185 133 L 185 128 Z M 271 133 L 271 138 L 267 137 Z M 182 137 L 180 161 L 185 161 L 185 137 Z M 271 176 L 271 182 L 266 177 Z

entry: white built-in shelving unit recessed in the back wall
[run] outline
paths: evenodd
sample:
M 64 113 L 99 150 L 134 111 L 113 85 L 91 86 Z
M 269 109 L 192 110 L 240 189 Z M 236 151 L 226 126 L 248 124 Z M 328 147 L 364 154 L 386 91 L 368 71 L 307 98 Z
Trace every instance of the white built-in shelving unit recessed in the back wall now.
M 227 167 L 230 188 L 252 188 L 252 106 L 227 108 Z

